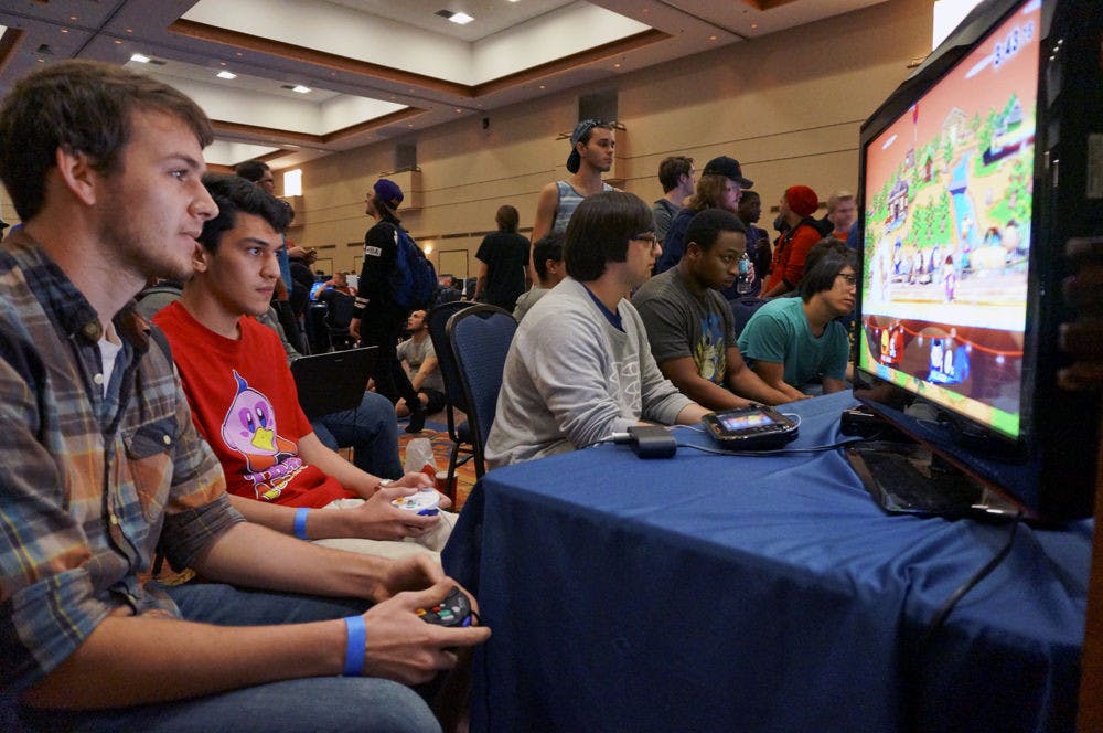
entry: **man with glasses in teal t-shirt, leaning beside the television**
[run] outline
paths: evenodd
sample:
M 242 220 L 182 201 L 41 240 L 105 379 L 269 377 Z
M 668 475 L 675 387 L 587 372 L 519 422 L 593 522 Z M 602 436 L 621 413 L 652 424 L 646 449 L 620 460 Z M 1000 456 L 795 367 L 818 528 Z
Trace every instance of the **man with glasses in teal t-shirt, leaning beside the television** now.
M 739 351 L 793 399 L 845 390 L 849 342 L 838 319 L 854 310 L 856 290 L 854 253 L 827 251 L 801 278 L 800 298 L 775 298 L 751 316 Z

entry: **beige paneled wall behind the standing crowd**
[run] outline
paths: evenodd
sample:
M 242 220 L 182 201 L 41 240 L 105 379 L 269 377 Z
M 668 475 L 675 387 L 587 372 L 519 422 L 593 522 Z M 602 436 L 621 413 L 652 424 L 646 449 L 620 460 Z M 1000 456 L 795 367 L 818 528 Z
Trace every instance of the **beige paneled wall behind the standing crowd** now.
M 578 95 L 608 88 L 619 91 L 627 128 L 612 174 L 647 202 L 662 195 L 656 173 L 668 155 L 692 156 L 698 169 L 733 156 L 767 208 L 795 183 L 825 201 L 835 189 L 857 187 L 861 121 L 907 77 L 907 64 L 930 51 L 931 15 L 930 0 L 889 0 L 494 110 L 486 130 L 480 118 L 464 118 L 312 161 L 302 167 L 303 225 L 291 238 L 336 245 L 320 254 L 338 268 L 358 264 L 353 258 L 370 223 L 364 192 L 390 167 L 395 144 L 416 140 L 424 205 L 406 212 L 404 224 L 432 245 L 435 262 L 441 249 L 468 249 L 474 275 L 478 233 L 494 227 L 503 203 L 521 212 L 522 229 L 532 226 L 540 188 L 566 176 L 569 145 L 556 137 L 574 127 Z M 454 253 L 446 256 L 450 269 L 456 262 Z

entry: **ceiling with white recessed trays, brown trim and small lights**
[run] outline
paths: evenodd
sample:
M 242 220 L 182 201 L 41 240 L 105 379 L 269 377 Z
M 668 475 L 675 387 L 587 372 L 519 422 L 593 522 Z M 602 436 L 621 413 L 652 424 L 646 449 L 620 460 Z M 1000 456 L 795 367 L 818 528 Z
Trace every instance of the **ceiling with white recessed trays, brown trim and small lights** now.
M 129 64 L 203 106 L 210 162 L 286 168 L 879 2 L 0 0 L 0 93 L 60 59 Z

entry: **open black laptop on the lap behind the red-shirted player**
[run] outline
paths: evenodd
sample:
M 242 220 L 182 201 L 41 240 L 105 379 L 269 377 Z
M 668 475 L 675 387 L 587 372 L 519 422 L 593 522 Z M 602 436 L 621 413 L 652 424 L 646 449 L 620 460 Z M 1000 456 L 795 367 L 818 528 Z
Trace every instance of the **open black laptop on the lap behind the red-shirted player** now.
M 299 405 L 307 417 L 358 407 L 375 368 L 376 351 L 377 347 L 330 351 L 291 362 Z

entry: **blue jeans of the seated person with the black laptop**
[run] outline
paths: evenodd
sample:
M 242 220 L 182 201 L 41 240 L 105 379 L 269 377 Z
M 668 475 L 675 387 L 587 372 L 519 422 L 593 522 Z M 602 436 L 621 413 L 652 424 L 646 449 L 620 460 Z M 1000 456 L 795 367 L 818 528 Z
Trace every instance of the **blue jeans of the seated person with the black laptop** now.
M 401 478 L 398 460 L 398 419 L 395 406 L 382 394 L 365 392 L 355 410 L 310 421 L 318 439 L 329 448 L 352 447 L 356 468 L 379 478 Z

